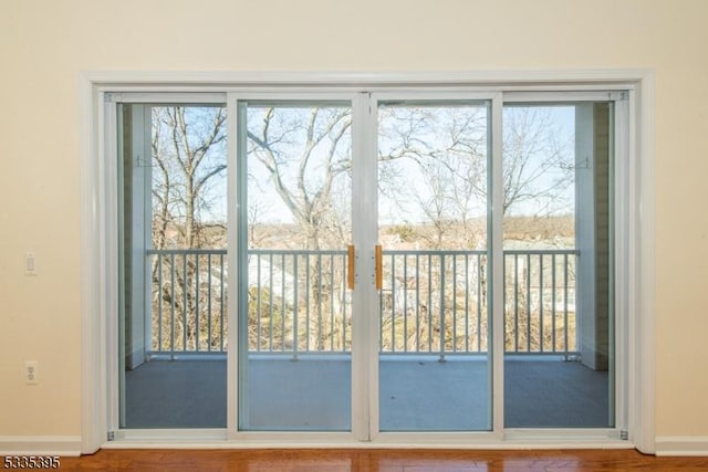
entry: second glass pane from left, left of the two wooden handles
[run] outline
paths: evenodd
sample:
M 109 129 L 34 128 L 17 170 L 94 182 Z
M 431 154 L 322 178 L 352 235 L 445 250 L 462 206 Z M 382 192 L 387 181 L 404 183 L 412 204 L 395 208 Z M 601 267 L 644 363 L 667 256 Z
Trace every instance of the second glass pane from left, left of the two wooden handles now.
M 242 104 L 241 430 L 351 429 L 351 115 Z

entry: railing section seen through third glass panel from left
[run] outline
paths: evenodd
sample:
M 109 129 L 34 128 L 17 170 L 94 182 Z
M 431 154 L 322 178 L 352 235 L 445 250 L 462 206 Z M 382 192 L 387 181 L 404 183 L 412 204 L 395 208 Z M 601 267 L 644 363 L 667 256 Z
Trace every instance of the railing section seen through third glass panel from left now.
M 487 352 L 487 251 L 384 251 L 381 352 Z

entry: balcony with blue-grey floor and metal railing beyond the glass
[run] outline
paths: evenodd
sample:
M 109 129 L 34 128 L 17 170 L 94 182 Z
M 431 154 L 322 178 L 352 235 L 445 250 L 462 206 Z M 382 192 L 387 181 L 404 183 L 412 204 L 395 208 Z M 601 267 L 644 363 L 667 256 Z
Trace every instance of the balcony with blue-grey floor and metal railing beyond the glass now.
M 126 427 L 226 427 L 226 251 L 148 256 L 149 361 L 126 373 Z M 248 313 L 250 427 L 269 429 L 279 418 L 283 429 L 306 430 L 312 421 L 347 429 L 346 252 L 250 250 L 248 258 L 248 300 L 239 308 Z M 612 424 L 607 371 L 579 361 L 577 258 L 575 250 L 504 252 L 509 428 Z M 382 430 L 409 428 L 413 412 L 420 430 L 489 429 L 487 252 L 384 251 L 383 273 Z

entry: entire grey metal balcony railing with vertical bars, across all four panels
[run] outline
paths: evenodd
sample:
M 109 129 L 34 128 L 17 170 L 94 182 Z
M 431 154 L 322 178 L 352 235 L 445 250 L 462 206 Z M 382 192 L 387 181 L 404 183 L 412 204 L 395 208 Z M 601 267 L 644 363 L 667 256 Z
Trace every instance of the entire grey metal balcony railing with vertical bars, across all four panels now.
M 226 250 L 150 250 L 150 354 L 225 353 Z M 504 251 L 504 348 L 577 350 L 576 250 Z M 383 252 L 379 350 L 487 353 L 487 251 Z M 346 251 L 249 250 L 248 344 L 253 353 L 347 353 Z M 295 316 L 296 314 L 296 316 Z

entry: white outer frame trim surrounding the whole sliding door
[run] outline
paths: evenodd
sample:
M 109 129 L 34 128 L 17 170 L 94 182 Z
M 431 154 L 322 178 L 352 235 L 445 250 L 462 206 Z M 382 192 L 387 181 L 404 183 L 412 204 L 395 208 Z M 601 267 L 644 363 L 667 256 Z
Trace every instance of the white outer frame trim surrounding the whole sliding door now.
M 445 87 L 442 87 L 445 84 Z M 454 438 L 431 441 L 429 437 L 410 436 L 395 440 L 395 444 L 405 447 L 425 443 L 433 447 L 636 447 L 642 452 L 655 451 L 654 431 L 654 77 L 649 71 L 565 71 L 565 72 L 488 72 L 488 73 L 124 73 L 96 72 L 81 77 L 82 109 L 82 200 L 81 200 L 81 243 L 84 249 L 82 259 L 82 452 L 95 452 L 102 447 L 127 447 L 139 441 L 117 444 L 106 442 L 107 431 L 107 359 L 115 340 L 111 339 L 112 327 L 106 326 L 106 314 L 117 306 L 116 293 L 116 193 L 115 169 L 108 162 L 106 151 L 114 146 L 110 143 L 110 133 L 105 133 L 110 123 L 104 119 L 106 94 L 116 92 L 178 92 L 207 93 L 215 90 L 220 93 L 249 92 L 254 87 L 288 86 L 299 90 L 316 91 L 377 91 L 430 88 L 462 91 L 628 91 L 629 107 L 628 149 L 626 165 L 627 188 L 626 206 L 617 209 L 618 218 L 625 221 L 626 233 L 618 244 L 626 244 L 627 269 L 618 274 L 617 287 L 625 295 L 622 308 L 627 312 L 629 332 L 627 334 L 629 402 L 627 426 L 629 438 L 624 443 L 598 443 L 594 439 L 546 438 L 534 440 L 509 436 L 501 438 L 479 438 L 462 442 Z M 293 88 L 291 88 L 293 90 Z M 371 130 L 369 130 L 371 132 Z M 365 130 L 362 133 L 366 133 Z M 354 136 L 354 141 L 357 137 Z M 365 143 L 366 140 L 364 139 Z M 371 141 L 371 139 L 369 139 Z M 361 144 L 360 144 L 361 145 Z M 620 250 L 621 248 L 618 248 Z M 624 280 L 620 280 L 620 275 Z M 231 413 L 231 412 L 229 412 Z M 210 447 L 253 447 L 256 444 L 308 445 L 315 447 L 324 438 L 313 437 L 270 437 L 257 441 L 229 441 L 216 434 L 208 444 L 204 437 L 184 431 L 181 441 L 168 440 L 148 444 L 150 447 L 185 447 L 201 444 Z M 175 432 L 171 432 L 175 438 Z M 419 439 L 418 439 L 419 438 Z M 343 438 L 342 438 L 343 439 Z M 363 438 L 360 438 L 363 439 Z M 461 438 L 460 438 L 461 439 Z M 136 438 L 137 441 L 137 438 Z M 341 440 L 340 440 L 341 441 Z M 341 445 L 342 442 L 339 442 Z M 332 443 L 331 441 L 327 441 Z M 324 442 L 323 442 L 324 443 Z M 348 442 L 347 442 L 348 443 Z M 353 447 L 375 447 L 377 443 L 360 442 Z M 378 444 L 383 444 L 378 443 Z M 387 447 L 392 443 L 387 442 Z

